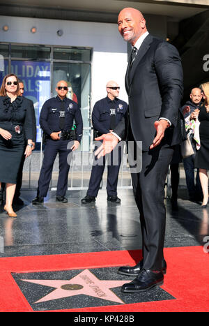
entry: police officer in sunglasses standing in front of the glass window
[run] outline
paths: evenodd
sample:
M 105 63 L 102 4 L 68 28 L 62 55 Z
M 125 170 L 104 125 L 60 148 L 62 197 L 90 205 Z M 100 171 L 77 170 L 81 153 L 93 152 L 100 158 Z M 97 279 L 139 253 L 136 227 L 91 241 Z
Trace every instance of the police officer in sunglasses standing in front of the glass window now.
M 65 193 L 68 187 L 68 172 L 70 165 L 67 161 L 70 151 L 75 151 L 82 140 L 83 121 L 79 106 L 66 97 L 68 83 L 64 80 L 56 84 L 58 96 L 50 98 L 42 106 L 40 126 L 45 133 L 45 153 L 38 180 L 37 196 L 33 205 L 41 204 L 47 196 L 52 169 L 57 153 L 59 153 L 59 179 L 56 190 L 56 201 L 68 202 Z M 71 128 L 73 120 L 76 124 L 76 140 L 72 139 Z M 72 142 L 69 148 L 68 143 Z M 68 148 L 67 148 L 68 147 Z

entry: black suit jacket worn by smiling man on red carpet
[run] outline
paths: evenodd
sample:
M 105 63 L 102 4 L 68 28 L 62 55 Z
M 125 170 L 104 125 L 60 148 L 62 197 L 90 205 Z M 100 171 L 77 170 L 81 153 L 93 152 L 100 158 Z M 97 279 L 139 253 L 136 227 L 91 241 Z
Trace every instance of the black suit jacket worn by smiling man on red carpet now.
M 130 126 L 134 140 L 142 141 L 142 149 L 148 151 L 156 135 L 154 122 L 163 117 L 171 121 L 171 127 L 165 131 L 162 143 L 179 144 L 183 70 L 176 47 L 148 34 L 131 70 L 130 62 L 127 66 L 125 87 L 129 110 L 114 132 L 127 138 Z

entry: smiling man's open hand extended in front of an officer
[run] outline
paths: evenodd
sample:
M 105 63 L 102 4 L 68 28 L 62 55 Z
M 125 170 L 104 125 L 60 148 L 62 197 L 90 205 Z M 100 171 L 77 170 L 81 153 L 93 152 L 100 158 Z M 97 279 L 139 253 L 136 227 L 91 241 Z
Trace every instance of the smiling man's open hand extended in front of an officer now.
M 118 144 L 118 138 L 112 133 L 104 133 L 95 140 L 103 140 L 102 145 L 95 151 L 95 156 L 98 155 L 98 158 L 110 153 Z

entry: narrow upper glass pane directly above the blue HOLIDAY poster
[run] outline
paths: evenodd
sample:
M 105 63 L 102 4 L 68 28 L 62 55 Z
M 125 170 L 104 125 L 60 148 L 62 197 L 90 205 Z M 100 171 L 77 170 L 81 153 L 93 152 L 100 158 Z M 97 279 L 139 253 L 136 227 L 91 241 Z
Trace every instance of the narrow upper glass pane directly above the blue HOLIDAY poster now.
M 50 59 L 50 47 L 12 45 L 12 57 L 29 59 Z

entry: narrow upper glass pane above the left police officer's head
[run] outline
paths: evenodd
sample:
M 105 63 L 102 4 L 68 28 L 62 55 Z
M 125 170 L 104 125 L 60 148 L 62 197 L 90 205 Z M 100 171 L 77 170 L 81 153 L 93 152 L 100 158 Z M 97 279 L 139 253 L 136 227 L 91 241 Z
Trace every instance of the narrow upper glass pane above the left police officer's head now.
M 54 47 L 53 55 L 56 60 L 91 61 L 91 50 L 77 49 L 76 47 Z

